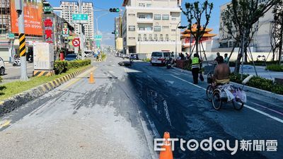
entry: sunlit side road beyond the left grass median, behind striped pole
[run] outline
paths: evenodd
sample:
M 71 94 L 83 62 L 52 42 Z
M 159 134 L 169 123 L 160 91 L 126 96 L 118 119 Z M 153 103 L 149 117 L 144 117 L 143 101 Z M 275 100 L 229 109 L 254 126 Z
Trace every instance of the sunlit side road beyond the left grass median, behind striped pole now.
M 21 66 L 13 66 L 10 63 L 5 64 L 5 75 L 2 76 L 4 79 L 3 83 L 11 82 L 20 79 L 21 77 Z M 33 63 L 27 63 L 28 77 L 33 76 Z

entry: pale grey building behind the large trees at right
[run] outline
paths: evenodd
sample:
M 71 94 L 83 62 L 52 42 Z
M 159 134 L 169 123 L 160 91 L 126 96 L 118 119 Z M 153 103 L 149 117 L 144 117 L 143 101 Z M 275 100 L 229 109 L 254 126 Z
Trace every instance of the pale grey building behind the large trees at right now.
M 260 3 L 265 3 L 265 1 L 260 1 Z M 221 13 L 227 9 L 227 5 L 229 4 L 231 3 L 220 6 Z M 273 8 L 267 11 L 265 16 L 262 16 L 258 23 L 255 23 L 255 26 L 258 25 L 259 28 L 256 31 L 253 40 L 250 42 L 250 48 L 252 49 L 252 52 L 270 52 L 270 26 L 273 20 L 272 11 Z M 225 48 L 231 49 L 231 47 L 233 47 L 235 40 L 227 33 L 221 16 L 219 19 L 219 47 L 224 48 L 223 50 L 226 51 Z M 232 31 L 236 34 L 235 29 Z M 239 47 L 239 45 L 236 47 Z

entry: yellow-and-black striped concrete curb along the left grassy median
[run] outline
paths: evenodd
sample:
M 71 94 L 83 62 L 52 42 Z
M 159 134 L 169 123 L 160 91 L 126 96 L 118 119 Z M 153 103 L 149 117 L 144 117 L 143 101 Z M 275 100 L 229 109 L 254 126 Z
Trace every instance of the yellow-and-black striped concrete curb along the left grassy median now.
M 8 98 L 7 100 L 1 101 L 0 117 L 3 114 L 15 110 L 17 107 L 21 107 L 21 105 L 24 105 L 25 103 L 30 102 L 31 100 L 38 98 L 41 95 L 44 95 L 45 93 L 48 93 L 50 90 L 54 90 L 54 88 L 61 86 L 63 83 L 66 83 L 67 81 L 71 80 L 72 78 L 75 78 L 79 74 L 91 68 L 93 68 L 93 66 L 88 66 L 86 68 L 79 69 L 74 73 L 69 73 L 65 76 L 62 76 L 61 78 L 54 79 L 53 81 L 44 83 L 30 90 L 25 90 L 23 93 L 19 93 L 11 98 Z

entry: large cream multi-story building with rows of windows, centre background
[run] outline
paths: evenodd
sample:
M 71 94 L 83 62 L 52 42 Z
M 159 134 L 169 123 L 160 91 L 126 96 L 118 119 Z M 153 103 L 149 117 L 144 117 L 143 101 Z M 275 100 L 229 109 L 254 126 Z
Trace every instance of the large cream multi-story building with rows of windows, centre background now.
M 124 0 L 123 47 L 144 59 L 151 52 L 181 52 L 181 0 Z

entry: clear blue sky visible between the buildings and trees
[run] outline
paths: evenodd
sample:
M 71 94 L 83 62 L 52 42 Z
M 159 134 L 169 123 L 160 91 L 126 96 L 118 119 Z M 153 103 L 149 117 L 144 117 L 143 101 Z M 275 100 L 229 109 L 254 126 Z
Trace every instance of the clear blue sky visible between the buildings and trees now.
M 50 2 L 51 6 L 59 6 L 59 0 L 47 0 Z M 68 0 L 72 1 L 72 0 Z M 75 0 L 76 1 L 76 0 Z M 94 13 L 94 17 L 97 18 L 105 13 L 105 16 L 101 16 L 98 18 L 98 29 L 100 33 L 103 34 L 103 43 L 104 45 L 114 45 L 114 35 L 112 35 L 112 31 L 114 30 L 114 18 L 119 16 L 118 13 L 110 13 L 109 8 L 122 8 L 123 0 L 82 0 L 82 1 L 91 1 L 94 4 L 95 10 L 106 10 L 106 11 L 96 11 Z M 200 0 L 202 2 L 203 0 Z M 219 17 L 220 17 L 220 6 L 228 3 L 231 0 L 210 0 L 214 4 L 214 8 L 212 10 L 212 18 L 208 25 L 209 28 L 213 28 L 212 33 L 219 33 Z M 192 0 L 183 0 L 183 8 L 185 8 L 185 2 L 192 3 Z M 96 23 L 96 20 L 94 20 Z M 95 24 L 96 25 L 96 24 Z M 182 25 L 187 25 L 187 19 L 182 14 Z M 96 26 L 95 26 L 96 28 Z

